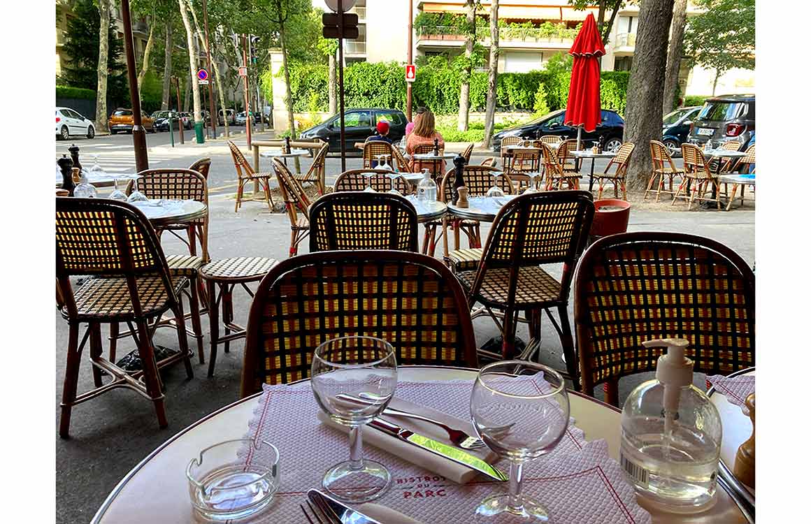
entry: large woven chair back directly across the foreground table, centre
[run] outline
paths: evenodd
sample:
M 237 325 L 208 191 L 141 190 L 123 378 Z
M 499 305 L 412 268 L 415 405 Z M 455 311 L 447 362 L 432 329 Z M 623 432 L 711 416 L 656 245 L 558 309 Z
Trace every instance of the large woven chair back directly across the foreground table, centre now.
M 352 335 L 387 340 L 397 364 L 478 368 L 465 294 L 442 262 L 405 251 L 324 251 L 288 258 L 260 283 L 240 395 L 308 377 L 316 347 Z

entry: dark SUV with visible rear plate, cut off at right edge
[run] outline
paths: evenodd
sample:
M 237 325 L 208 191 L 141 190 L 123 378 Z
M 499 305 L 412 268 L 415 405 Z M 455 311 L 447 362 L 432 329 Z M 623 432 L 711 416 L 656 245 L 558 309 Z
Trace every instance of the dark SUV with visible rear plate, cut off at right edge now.
M 709 141 L 712 147 L 718 147 L 735 140 L 745 148 L 754 132 L 754 95 L 713 96 L 704 100 L 701 111 L 693 120 L 688 142 L 703 147 Z

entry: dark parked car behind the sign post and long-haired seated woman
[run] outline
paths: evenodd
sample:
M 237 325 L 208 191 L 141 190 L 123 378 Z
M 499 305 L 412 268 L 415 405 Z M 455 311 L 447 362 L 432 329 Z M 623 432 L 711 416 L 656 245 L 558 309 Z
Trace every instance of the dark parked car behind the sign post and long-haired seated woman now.
M 379 121 L 388 122 L 388 138 L 393 142 L 398 142 L 405 135 L 405 124 L 408 121 L 399 109 L 347 109 L 344 113 L 346 151 L 352 151 L 354 143 L 363 142 L 375 134 Z M 328 151 L 341 151 L 341 122 L 338 115 L 304 130 L 301 138 L 321 138 L 329 144 Z

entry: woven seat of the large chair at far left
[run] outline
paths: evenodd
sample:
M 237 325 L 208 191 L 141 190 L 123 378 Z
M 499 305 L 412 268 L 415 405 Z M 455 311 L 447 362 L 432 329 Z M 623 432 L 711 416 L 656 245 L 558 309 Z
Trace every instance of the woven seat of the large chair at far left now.
M 143 317 L 152 317 L 169 309 L 169 296 L 160 276 L 136 277 L 135 283 L 138 287 Z M 179 293 L 186 287 L 188 279 L 178 278 L 172 283 L 174 292 Z M 80 322 L 90 320 L 115 322 L 135 318 L 127 279 L 86 279 L 76 290 L 74 299 L 77 320 Z M 62 316 L 69 318 L 67 308 L 62 309 Z

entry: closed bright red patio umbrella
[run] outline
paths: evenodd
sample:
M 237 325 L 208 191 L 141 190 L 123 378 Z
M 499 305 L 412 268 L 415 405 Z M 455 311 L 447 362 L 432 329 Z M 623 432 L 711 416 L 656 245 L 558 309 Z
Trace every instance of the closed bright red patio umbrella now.
M 574 62 L 564 124 L 577 126 L 577 149 L 580 149 L 581 131 L 584 128 L 594 131 L 600 121 L 599 57 L 605 53 L 594 15 L 589 13 L 574 39 L 572 49 L 569 49 Z

